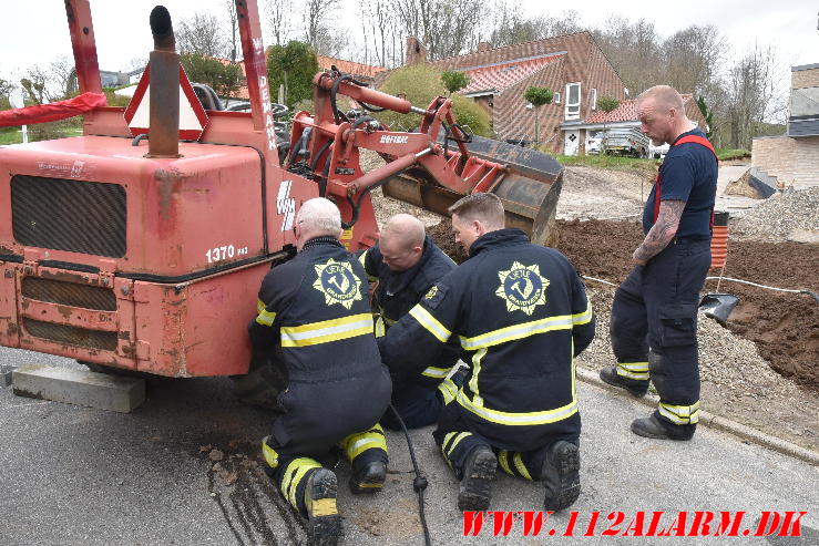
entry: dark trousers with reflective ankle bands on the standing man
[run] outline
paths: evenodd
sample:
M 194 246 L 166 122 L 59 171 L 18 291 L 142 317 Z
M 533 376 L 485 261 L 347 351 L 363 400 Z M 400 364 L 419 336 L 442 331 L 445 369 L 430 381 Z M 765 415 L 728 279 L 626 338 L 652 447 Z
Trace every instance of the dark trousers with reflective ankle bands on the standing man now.
M 709 267 L 709 240 L 674 239 L 632 270 L 612 307 L 618 364 L 647 361 L 659 394 L 655 416 L 680 436 L 690 435 L 698 421 L 697 305 Z

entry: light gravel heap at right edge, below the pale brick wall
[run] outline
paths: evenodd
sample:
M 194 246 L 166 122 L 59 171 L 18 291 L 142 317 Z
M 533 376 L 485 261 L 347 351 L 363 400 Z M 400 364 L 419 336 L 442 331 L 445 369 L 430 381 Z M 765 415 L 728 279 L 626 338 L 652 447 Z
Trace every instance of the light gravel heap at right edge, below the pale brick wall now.
M 819 233 L 819 187 L 775 194 L 731 224 L 748 238 L 784 239 L 795 233 Z

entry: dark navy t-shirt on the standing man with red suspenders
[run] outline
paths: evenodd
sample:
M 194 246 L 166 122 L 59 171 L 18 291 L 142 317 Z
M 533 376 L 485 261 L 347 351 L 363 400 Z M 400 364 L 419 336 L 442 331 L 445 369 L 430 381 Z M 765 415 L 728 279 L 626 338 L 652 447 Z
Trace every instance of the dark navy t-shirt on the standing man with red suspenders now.
M 695 128 L 679 135 L 697 135 L 705 138 L 705 133 Z M 717 189 L 717 161 L 707 147 L 694 142 L 672 144 L 661 167 L 661 200 L 684 200 L 685 209 L 679 219 L 677 237 L 693 239 L 710 238 L 710 213 Z M 656 184 L 648 195 L 643 210 L 643 233 L 647 234 L 654 225 L 654 199 Z

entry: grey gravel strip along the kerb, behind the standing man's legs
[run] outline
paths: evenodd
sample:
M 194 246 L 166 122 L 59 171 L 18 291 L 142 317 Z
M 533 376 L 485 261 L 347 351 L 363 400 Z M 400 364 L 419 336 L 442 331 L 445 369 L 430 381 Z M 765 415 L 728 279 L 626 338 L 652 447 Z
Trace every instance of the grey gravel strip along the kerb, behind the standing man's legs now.
M 608 336 L 614 288 L 587 280 L 586 289 L 597 317 L 597 332 L 577 363 L 600 370 L 615 362 Z M 771 370 L 753 341 L 702 315 L 697 323 L 703 409 L 819 449 L 819 395 Z

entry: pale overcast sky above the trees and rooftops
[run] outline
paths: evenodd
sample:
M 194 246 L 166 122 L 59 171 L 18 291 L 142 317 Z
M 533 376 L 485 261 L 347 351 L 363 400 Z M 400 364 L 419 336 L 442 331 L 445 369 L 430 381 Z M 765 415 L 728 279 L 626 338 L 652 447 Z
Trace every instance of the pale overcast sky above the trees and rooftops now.
M 372 0 L 378 1 L 378 0 Z M 174 21 L 192 16 L 195 11 L 212 10 L 223 13 L 225 0 L 92 0 L 100 68 L 124 70 L 135 58 L 147 58 L 152 48 L 149 13 L 156 3 L 171 11 Z M 259 0 L 263 4 L 264 0 Z M 341 0 L 350 7 L 351 16 L 339 16 L 349 21 L 350 33 L 357 33 L 359 23 L 358 0 Z M 554 16 L 564 9 L 574 9 L 588 27 L 602 27 L 612 16 L 632 21 L 645 18 L 654 21 L 663 37 L 692 24 L 715 24 L 734 48 L 733 54 L 760 45 L 775 45 L 782 64 L 782 75 L 798 64 L 819 63 L 819 30 L 816 0 L 689 0 L 672 4 L 667 1 L 586 0 L 584 2 L 557 2 L 520 0 L 528 14 Z M 612 6 L 628 6 L 615 13 Z M 71 56 L 71 42 L 65 22 L 63 0 L 33 0 L 2 2 L 3 24 L 0 31 L 0 76 L 12 78 L 28 66 L 47 66 L 59 55 Z M 294 18 L 297 16 L 294 16 Z M 300 27 L 299 21 L 294 21 Z M 18 75 L 19 78 L 19 75 Z

